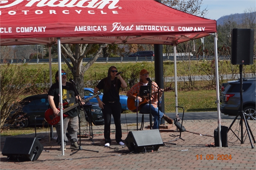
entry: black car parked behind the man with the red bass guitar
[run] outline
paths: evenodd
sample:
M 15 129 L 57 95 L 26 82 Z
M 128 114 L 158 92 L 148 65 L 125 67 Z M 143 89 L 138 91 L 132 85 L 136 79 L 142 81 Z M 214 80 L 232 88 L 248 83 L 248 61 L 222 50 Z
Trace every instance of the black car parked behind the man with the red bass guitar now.
M 7 122 L 14 123 L 16 127 L 25 128 L 35 125 L 36 117 L 36 125 L 47 124 L 44 120 L 44 113 L 48 108 L 49 101 L 47 94 L 26 97 L 20 102 L 20 109 L 10 113 Z M 104 123 L 102 111 L 96 103 L 93 103 L 92 107 L 88 108 L 92 110 L 92 121 L 94 124 Z M 88 108 L 86 109 L 85 107 L 87 114 L 90 111 Z

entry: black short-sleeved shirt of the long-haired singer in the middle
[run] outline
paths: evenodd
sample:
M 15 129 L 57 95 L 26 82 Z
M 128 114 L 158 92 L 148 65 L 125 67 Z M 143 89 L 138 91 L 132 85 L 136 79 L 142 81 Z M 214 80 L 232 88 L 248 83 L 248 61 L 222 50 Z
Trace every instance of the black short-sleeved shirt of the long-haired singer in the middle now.
M 120 101 L 119 89 L 121 87 L 121 81 L 118 79 L 117 84 L 115 84 L 115 80 L 111 81 L 110 90 L 108 92 L 106 92 L 106 91 L 104 91 L 106 79 L 107 79 L 107 77 L 102 79 L 96 86 L 98 89 L 103 89 L 102 102 L 104 103 L 104 102 L 108 102 L 108 101 Z

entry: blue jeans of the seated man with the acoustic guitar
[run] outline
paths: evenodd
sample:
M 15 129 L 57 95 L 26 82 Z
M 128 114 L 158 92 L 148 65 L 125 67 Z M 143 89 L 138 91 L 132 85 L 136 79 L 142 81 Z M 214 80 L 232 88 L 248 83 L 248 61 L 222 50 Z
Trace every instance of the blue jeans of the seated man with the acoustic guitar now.
M 141 113 L 149 113 L 149 104 L 146 104 L 144 106 L 141 107 L 140 109 Z M 161 118 L 164 116 L 164 113 L 162 113 L 161 111 L 159 111 L 159 118 L 158 119 L 158 107 L 155 108 L 153 105 L 151 105 L 151 115 L 154 117 L 154 125 L 153 125 L 153 129 L 158 129 L 159 128 L 159 122 L 161 124 Z

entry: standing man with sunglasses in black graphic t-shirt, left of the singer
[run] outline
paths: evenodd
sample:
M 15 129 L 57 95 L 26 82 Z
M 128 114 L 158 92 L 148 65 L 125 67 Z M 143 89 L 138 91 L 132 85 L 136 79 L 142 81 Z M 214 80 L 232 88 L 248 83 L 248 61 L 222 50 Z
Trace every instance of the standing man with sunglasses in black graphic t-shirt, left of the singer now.
M 61 70 L 61 79 L 62 79 L 62 103 L 67 103 L 64 105 L 64 109 L 76 104 L 78 97 L 81 100 L 80 96 L 76 93 L 75 87 L 72 83 L 67 82 L 67 75 L 64 70 Z M 60 116 L 59 108 L 59 71 L 55 74 L 55 83 L 50 87 L 48 91 L 48 100 L 50 107 L 53 110 L 55 116 Z M 84 105 L 84 102 L 81 102 L 81 105 Z M 68 138 L 66 136 L 66 131 L 68 130 L 68 135 L 70 136 L 70 148 L 78 150 L 79 146 L 77 144 L 77 131 L 78 131 L 78 111 L 77 108 L 74 108 L 65 113 L 67 117 L 63 117 L 63 136 L 64 136 L 64 150 L 66 150 L 66 142 Z M 60 121 L 55 125 L 56 132 L 58 136 L 58 144 L 61 145 L 61 127 Z M 62 147 L 60 147 L 61 150 Z

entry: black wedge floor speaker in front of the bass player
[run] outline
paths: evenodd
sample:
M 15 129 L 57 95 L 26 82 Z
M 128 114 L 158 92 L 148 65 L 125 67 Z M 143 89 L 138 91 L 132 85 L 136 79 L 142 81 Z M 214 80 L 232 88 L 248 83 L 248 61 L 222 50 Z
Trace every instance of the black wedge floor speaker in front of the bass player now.
M 38 138 L 6 138 L 2 155 L 10 160 L 34 161 L 38 159 L 43 148 Z

